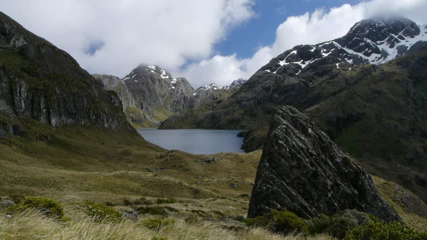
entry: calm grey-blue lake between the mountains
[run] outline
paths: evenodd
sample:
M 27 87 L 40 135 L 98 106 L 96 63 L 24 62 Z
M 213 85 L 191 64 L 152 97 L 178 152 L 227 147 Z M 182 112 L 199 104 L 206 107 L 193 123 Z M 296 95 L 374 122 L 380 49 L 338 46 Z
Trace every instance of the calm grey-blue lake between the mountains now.
M 168 150 L 177 149 L 193 154 L 212 154 L 218 152 L 244 152 L 240 149 L 243 137 L 237 133 L 242 130 L 210 129 L 136 129 L 145 140 Z

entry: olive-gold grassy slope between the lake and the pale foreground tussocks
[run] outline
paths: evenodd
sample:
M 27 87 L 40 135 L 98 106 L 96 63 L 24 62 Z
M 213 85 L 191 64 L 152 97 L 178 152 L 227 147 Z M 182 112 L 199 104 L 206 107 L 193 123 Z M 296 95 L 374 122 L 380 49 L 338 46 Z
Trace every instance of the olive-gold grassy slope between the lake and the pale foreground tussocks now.
M 164 150 L 128 132 L 53 128 L 34 120 L 20 124 L 24 136 L 0 138 L 4 196 L 55 189 L 117 204 L 123 198 L 173 197 L 192 202 L 194 209 L 217 211 L 212 216 L 246 214 L 249 197 L 242 194 L 252 189 L 260 151 L 192 155 Z M 41 133 L 45 140 L 35 140 Z M 207 162 L 213 157 L 217 160 Z M 207 206 L 197 206 L 203 201 Z

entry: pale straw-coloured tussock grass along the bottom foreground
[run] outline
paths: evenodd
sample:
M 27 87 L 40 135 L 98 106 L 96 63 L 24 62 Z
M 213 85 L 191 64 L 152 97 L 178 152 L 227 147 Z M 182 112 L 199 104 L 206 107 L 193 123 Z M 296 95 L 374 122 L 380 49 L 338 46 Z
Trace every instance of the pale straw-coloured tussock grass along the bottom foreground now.
M 304 237 L 299 234 L 288 236 L 274 234 L 262 228 L 249 228 L 244 224 L 239 227 L 225 222 L 196 222 L 187 223 L 182 218 L 168 217 L 172 222 L 159 229 L 153 230 L 139 224 L 141 221 L 156 216 L 144 216 L 138 220 L 125 219 L 120 222 L 96 221 L 87 216 L 76 201 L 81 201 L 75 195 L 61 195 L 61 193 L 45 194 L 54 197 L 64 207 L 68 221 L 61 221 L 43 215 L 36 210 L 26 210 L 21 213 L 6 215 L 0 214 L 0 239 L 153 239 L 164 237 L 173 239 L 200 239 L 200 240 L 329 240 L 334 239 L 327 235 Z M 236 223 L 239 224 L 239 223 Z M 154 238 L 155 239 L 155 238 Z

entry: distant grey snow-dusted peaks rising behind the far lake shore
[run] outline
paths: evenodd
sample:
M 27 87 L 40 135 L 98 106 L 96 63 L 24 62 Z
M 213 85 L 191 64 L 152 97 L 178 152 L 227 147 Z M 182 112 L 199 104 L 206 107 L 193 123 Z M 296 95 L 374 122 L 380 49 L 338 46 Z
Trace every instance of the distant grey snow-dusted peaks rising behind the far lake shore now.
M 141 64 L 123 79 L 94 74 L 105 89 L 114 90 L 123 102 L 127 119 L 135 127 L 158 127 L 160 122 L 200 104 L 210 106 L 224 99 L 246 80 L 219 87 L 215 83 L 194 90 L 183 77 L 175 77 L 157 65 Z

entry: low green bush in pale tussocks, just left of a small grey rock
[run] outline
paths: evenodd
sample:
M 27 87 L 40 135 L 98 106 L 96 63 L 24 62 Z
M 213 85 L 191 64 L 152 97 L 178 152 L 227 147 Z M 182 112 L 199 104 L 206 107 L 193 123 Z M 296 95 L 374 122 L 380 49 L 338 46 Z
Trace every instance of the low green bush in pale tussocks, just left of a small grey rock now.
M 101 203 L 84 201 L 83 207 L 85 212 L 96 221 L 102 221 L 104 219 L 110 221 L 120 221 L 122 219 L 122 214 L 120 212 Z

